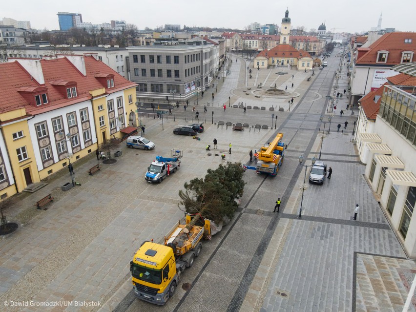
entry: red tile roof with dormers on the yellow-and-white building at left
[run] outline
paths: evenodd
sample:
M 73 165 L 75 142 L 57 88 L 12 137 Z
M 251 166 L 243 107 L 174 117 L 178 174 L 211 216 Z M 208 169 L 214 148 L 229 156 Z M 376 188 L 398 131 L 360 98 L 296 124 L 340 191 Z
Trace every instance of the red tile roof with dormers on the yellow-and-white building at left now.
M 106 88 L 107 93 L 113 93 L 136 86 L 120 76 L 117 72 L 97 61 L 92 56 L 83 56 L 86 76 L 84 76 L 66 57 L 52 60 L 41 60 L 43 78 L 42 85 L 15 61 L 0 63 L 0 113 L 24 107 L 26 112 L 35 115 L 59 107 L 79 103 L 91 98 L 89 91 L 102 88 L 103 85 L 94 77 L 95 75 L 114 75 L 114 87 Z M 59 92 L 65 83 L 77 83 L 78 96 L 72 99 Z M 63 83 L 63 84 L 62 84 Z M 36 92 L 39 87 L 47 89 L 48 104 L 33 106 L 29 104 L 18 91 Z M 44 92 L 44 91 L 42 91 Z

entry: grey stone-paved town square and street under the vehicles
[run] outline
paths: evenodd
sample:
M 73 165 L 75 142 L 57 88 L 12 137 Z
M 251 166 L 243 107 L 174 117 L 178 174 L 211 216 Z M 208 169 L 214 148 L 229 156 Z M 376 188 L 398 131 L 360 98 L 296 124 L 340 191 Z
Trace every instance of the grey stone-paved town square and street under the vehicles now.
M 328 134 L 326 124 L 321 159 L 333 167 L 333 176 L 323 186 L 305 189 L 303 217 L 297 218 L 304 179 L 298 157 L 303 154 L 310 164 L 312 156 L 319 155 L 318 131 L 323 132 L 319 116 L 328 107 L 325 96 L 332 92 L 336 66 L 334 62 L 315 71 L 312 82 L 305 81 L 305 73 L 293 71 L 293 92 L 299 96 L 290 113 L 289 105 L 284 112 L 274 112 L 276 130 L 239 132 L 212 125 L 212 112 L 215 122 L 250 125 L 269 125 L 272 112 L 251 109 L 244 114 L 231 107 L 224 112 L 220 103 L 229 101 L 229 96 L 231 106 L 247 101 L 247 105 L 268 109 L 287 103 L 233 94 L 232 90 L 250 86 L 247 63 L 239 58 L 229 77 L 217 86 L 219 92 L 207 115 L 200 113 L 200 121 L 205 122 L 201 141 L 172 134 L 178 123 L 193 118 L 189 111 L 177 111 L 175 122 L 167 116 L 163 125 L 159 119 L 145 118 L 146 137 L 156 143 L 155 150 L 130 150 L 122 145 L 123 155 L 115 164 L 103 165 L 101 171 L 88 176 L 86 171 L 97 162 L 91 155 L 74 164 L 81 187 L 62 192 L 60 186 L 69 180 L 62 170 L 40 191 L 19 195 L 19 205 L 6 213 L 9 220 L 23 225 L 0 240 L 1 311 L 365 311 L 373 307 L 394 311 L 400 305 L 399 294 L 405 300 L 406 285 L 416 268 L 412 261 L 400 259 L 406 255 L 363 179 L 364 166 L 350 142 L 352 127 L 341 133 L 334 132 L 331 125 Z M 291 85 L 291 72 L 276 77 L 275 71 L 257 71 L 252 85 Z M 337 118 L 333 117 L 332 124 Z M 352 125 L 355 116 L 345 118 Z M 278 175 L 245 173 L 241 208 L 228 226 L 204 243 L 201 256 L 165 306 L 135 299 L 128 271 L 134 252 L 144 240 L 161 241 L 183 216 L 177 207 L 183 184 L 221 163 L 220 157 L 207 155 L 205 146 L 215 137 L 221 152 L 231 142 L 232 154 L 227 154 L 227 160 L 246 163 L 250 149 L 270 142 L 276 132 L 284 133 L 288 145 Z M 156 155 L 170 155 L 171 148 L 184 149 L 181 169 L 161 185 L 147 184 L 146 166 Z M 56 200 L 48 210 L 33 208 L 38 198 L 50 192 Z M 282 198 L 279 214 L 272 212 L 278 196 Z M 355 202 L 361 206 L 358 221 L 351 220 Z M 379 291 L 377 281 L 387 276 L 384 269 L 389 269 L 397 284 L 394 291 L 389 283 Z M 183 290 L 183 283 L 192 288 Z M 100 305 L 4 306 L 5 301 L 24 300 Z

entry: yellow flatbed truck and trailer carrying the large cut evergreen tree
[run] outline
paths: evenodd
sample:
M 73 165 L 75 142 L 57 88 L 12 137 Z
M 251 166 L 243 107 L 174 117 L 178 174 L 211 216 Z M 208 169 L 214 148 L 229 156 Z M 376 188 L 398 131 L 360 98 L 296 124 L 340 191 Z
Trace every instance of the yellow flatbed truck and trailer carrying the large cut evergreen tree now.
M 202 238 L 211 239 L 210 222 L 195 226 L 198 219 L 186 215 L 165 236 L 165 244 L 145 241 L 130 261 L 134 294 L 141 300 L 164 305 L 202 250 Z

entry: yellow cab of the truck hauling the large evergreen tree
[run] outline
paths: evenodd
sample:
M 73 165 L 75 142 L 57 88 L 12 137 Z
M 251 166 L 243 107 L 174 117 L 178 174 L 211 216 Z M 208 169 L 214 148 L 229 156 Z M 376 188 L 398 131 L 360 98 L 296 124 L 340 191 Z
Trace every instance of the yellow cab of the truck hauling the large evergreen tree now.
M 164 305 L 179 281 L 175 255 L 170 247 L 144 242 L 130 262 L 134 294 L 137 298 Z

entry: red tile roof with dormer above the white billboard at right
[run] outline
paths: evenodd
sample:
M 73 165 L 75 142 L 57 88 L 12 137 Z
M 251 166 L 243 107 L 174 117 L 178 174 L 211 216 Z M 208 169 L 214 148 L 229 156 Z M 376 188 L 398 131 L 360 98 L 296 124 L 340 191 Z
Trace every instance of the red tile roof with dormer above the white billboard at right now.
M 411 42 L 405 42 L 406 39 L 411 39 Z M 370 50 L 364 53 L 359 53 L 357 65 L 377 64 L 377 65 L 396 65 L 401 62 L 403 51 L 413 51 L 416 54 L 416 33 L 414 32 L 393 32 L 384 34 L 377 41 L 368 47 Z M 364 51 L 358 49 L 358 51 Z M 387 62 L 376 62 L 378 51 L 389 51 Z M 414 56 L 415 59 L 415 56 Z

